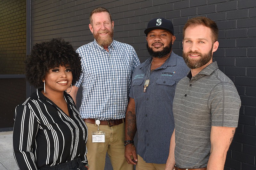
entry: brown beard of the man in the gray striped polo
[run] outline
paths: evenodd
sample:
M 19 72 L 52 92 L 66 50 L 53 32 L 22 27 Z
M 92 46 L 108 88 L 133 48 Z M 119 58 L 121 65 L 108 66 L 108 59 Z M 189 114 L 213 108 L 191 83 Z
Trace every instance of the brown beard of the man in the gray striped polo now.
M 213 46 L 212 46 L 212 48 L 213 48 Z M 188 57 L 189 53 L 198 54 L 201 57 L 200 57 L 200 59 L 192 59 L 192 58 Z M 185 63 L 187 64 L 187 66 L 189 68 L 196 69 L 196 68 L 200 68 L 200 67 L 206 65 L 207 63 L 209 63 L 210 60 L 212 60 L 212 49 L 208 53 L 205 53 L 205 54 L 198 53 L 198 52 L 192 52 L 192 51 L 189 51 L 188 53 L 184 53 L 182 51 L 182 56 L 183 56 Z

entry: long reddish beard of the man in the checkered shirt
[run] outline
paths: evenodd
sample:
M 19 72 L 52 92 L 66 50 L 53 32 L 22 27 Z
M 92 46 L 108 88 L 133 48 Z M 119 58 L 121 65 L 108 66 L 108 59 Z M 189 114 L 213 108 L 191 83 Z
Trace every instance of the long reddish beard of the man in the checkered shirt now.
M 100 33 L 106 33 L 108 32 L 108 36 L 105 38 L 100 37 Z M 93 34 L 94 38 L 96 39 L 97 43 L 100 46 L 110 46 L 110 44 L 113 41 L 113 35 L 114 35 L 114 30 L 112 29 L 111 31 L 108 30 L 100 30 L 96 33 Z

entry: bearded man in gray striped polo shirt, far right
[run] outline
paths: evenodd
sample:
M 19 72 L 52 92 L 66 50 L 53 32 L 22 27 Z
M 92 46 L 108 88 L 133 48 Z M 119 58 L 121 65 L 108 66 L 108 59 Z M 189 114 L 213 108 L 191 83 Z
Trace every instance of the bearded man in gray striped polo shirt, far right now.
M 191 71 L 176 86 L 166 170 L 224 168 L 241 100 L 234 83 L 212 62 L 217 40 L 218 27 L 211 19 L 192 18 L 183 28 L 183 58 Z

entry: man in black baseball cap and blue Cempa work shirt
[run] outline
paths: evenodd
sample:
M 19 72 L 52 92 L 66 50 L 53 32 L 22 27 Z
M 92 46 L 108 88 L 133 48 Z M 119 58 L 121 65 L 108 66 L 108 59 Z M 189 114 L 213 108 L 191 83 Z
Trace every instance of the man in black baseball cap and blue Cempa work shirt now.
M 140 64 L 132 76 L 124 141 L 125 158 L 136 165 L 136 170 L 162 170 L 168 158 L 174 130 L 174 91 L 189 71 L 183 58 L 172 52 L 176 39 L 173 32 L 172 22 L 164 18 L 152 19 L 144 31 L 152 57 Z M 133 145 L 137 130 L 138 155 Z

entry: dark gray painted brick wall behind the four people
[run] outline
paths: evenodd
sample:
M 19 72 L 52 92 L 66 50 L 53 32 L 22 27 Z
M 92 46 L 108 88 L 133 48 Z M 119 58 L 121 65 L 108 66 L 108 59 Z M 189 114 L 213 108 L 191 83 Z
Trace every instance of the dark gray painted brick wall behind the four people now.
M 149 20 L 164 17 L 173 22 L 177 38 L 173 51 L 179 55 L 182 28 L 189 18 L 206 16 L 216 21 L 220 46 L 214 60 L 234 81 L 242 100 L 225 170 L 256 170 L 255 0 L 31 0 L 31 45 L 57 37 L 70 41 L 75 49 L 91 42 L 89 14 L 99 6 L 112 14 L 114 39 L 132 45 L 141 62 L 149 57 L 144 34 Z M 109 160 L 105 169 L 112 169 Z

